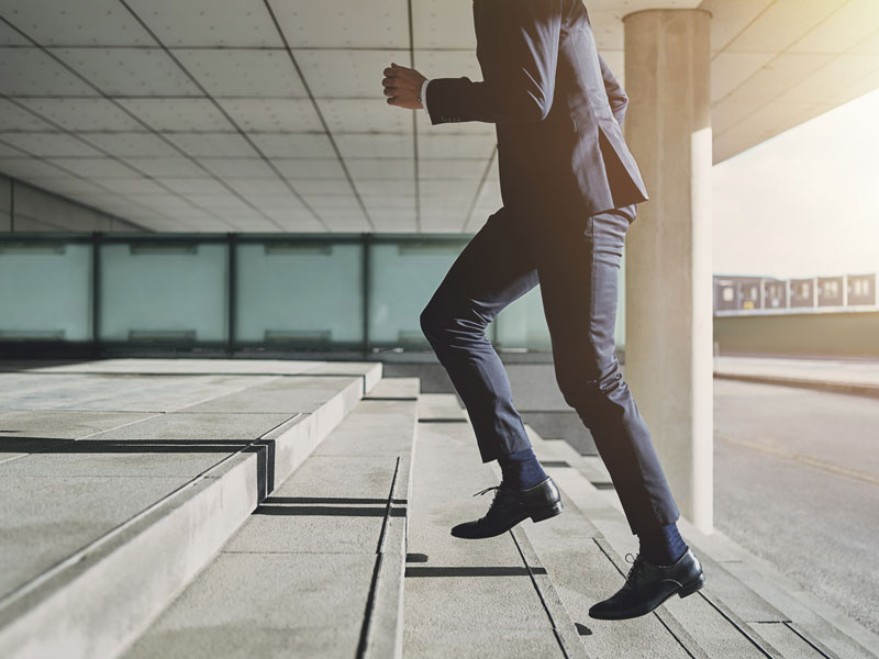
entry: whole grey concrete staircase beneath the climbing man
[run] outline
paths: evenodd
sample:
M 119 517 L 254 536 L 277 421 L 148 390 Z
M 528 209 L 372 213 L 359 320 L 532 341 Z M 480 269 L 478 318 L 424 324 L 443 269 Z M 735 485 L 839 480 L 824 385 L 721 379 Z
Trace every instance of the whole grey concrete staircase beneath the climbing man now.
M 108 360 L 0 373 L 1 657 L 876 657 L 879 639 L 681 521 L 708 583 L 588 617 L 636 551 L 603 465 L 498 538 L 454 394 L 380 364 Z

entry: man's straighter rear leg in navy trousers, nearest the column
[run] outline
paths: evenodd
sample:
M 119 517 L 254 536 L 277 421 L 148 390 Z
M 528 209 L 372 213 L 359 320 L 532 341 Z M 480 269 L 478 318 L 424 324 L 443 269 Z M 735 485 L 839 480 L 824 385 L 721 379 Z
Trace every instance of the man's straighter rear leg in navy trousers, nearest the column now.
M 615 354 L 630 219 L 634 206 L 557 223 L 539 241 L 537 272 L 559 389 L 591 431 L 632 532 L 645 534 L 679 512 Z

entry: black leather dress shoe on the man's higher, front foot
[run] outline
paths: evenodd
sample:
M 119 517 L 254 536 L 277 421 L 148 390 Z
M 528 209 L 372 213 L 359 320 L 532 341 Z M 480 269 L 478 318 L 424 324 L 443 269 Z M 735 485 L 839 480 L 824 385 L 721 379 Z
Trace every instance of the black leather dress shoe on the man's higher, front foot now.
M 526 517 L 541 522 L 561 514 L 561 495 L 548 476 L 527 490 L 513 490 L 501 481 L 500 485 L 486 488 L 474 496 L 489 490 L 496 492 L 486 516 L 476 522 L 458 524 L 452 529 L 452 535 L 468 539 L 492 538 L 507 533 Z

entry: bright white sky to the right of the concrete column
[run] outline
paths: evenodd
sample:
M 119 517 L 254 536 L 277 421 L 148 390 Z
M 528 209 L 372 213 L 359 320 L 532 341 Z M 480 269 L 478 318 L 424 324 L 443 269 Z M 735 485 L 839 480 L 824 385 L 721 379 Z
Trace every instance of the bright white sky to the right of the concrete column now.
M 879 90 L 714 167 L 714 272 L 879 271 Z

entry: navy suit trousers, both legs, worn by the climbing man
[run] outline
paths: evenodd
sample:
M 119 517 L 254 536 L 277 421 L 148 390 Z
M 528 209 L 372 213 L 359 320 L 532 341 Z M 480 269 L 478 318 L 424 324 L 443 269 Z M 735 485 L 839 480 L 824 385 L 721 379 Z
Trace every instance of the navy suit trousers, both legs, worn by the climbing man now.
M 620 259 L 636 208 L 541 223 L 501 208 L 467 244 L 421 327 L 467 406 L 483 462 L 531 446 L 486 326 L 541 284 L 556 380 L 592 434 L 633 533 L 679 517 L 616 359 Z

